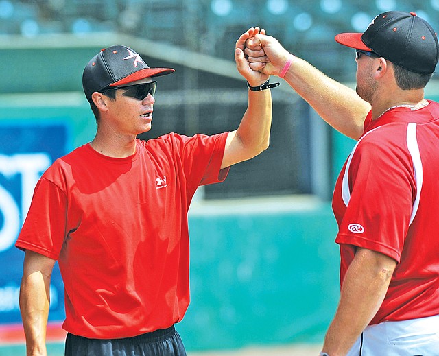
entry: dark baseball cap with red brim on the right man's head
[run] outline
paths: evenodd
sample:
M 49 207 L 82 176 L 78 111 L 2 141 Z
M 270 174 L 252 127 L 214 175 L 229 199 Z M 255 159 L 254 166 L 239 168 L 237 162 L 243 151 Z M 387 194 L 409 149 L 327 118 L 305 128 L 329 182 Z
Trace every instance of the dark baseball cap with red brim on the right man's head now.
M 414 12 L 383 12 L 363 34 L 337 34 L 335 40 L 347 47 L 375 52 L 420 74 L 433 73 L 439 58 L 438 36 L 431 25 Z

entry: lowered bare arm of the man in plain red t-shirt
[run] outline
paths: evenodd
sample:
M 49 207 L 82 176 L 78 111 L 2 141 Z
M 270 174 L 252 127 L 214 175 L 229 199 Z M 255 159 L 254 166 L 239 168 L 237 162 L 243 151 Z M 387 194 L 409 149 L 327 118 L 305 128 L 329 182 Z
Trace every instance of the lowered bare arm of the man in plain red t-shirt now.
M 26 355 L 47 355 L 46 328 L 50 279 L 55 261 L 27 250 L 20 287 L 20 311 L 26 337 Z

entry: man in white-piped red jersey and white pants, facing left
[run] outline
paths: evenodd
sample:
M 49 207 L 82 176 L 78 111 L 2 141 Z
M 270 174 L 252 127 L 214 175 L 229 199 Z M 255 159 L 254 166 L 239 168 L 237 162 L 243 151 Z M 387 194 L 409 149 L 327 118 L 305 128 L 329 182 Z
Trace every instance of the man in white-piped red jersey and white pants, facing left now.
M 439 56 L 415 13 L 385 12 L 355 49 L 357 89 L 257 34 L 250 67 L 279 75 L 331 126 L 357 140 L 335 185 L 340 303 L 321 355 L 439 355 L 439 104 L 424 87 Z

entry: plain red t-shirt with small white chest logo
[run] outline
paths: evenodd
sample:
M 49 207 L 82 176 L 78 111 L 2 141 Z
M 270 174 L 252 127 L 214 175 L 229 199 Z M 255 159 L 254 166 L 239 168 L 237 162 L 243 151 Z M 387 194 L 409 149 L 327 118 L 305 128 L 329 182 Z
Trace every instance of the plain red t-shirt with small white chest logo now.
M 58 260 L 64 329 L 107 339 L 182 320 L 189 305 L 187 211 L 199 185 L 226 178 L 226 137 L 137 140 L 127 158 L 87 144 L 47 169 L 16 246 Z

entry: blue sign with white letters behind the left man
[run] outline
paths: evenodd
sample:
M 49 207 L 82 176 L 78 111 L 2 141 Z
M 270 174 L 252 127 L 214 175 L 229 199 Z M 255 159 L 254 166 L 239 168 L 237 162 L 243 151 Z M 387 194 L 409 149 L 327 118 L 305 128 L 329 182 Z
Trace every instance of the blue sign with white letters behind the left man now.
M 0 123 L 0 323 L 21 322 L 19 287 L 24 252 L 14 246 L 36 182 L 69 146 L 67 123 Z M 58 265 L 51 278 L 49 320 L 64 319 L 64 285 Z

